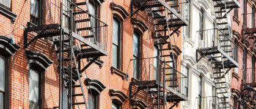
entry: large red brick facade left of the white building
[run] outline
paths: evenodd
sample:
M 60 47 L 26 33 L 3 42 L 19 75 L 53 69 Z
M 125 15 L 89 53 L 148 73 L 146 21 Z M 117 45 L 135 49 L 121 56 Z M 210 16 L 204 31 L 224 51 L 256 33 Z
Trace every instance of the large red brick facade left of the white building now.
M 3 100 L 0 108 L 58 108 L 59 62 L 53 42 L 47 38 L 35 39 L 27 48 L 24 48 L 24 31 L 25 28 L 34 26 L 27 22 L 32 22 L 35 25 L 47 25 L 58 22 L 57 20 L 60 17 L 58 18 L 57 16 L 60 16 L 60 12 L 56 8 L 59 8 L 62 0 L 7 0 L 7 2 L 10 2 L 10 4 L 0 3 L 0 56 L 1 62 L 4 63 L 0 64 L 4 68 L 1 69 L 4 76 L 2 76 L 0 82 L 5 84 L 4 87 L 0 85 L 0 94 L 2 94 L 0 101 Z M 32 4 L 36 6 L 33 7 L 31 6 Z M 131 81 L 153 79 L 153 67 L 150 67 L 150 64 L 153 64 L 153 59 L 143 59 L 141 61 L 141 66 L 139 66 L 141 71 L 139 71 L 137 79 L 134 79 L 134 62 L 132 60 L 134 59 L 134 32 L 141 38 L 139 39 L 139 53 L 141 53 L 139 58 L 154 57 L 155 40 L 153 37 L 155 36 L 155 30 L 152 17 L 142 10 L 139 10 L 133 17 L 130 17 L 130 1 L 98 0 L 90 1 L 90 4 L 94 5 L 95 12 L 96 14 L 98 13 L 96 15 L 98 19 L 108 25 L 108 30 L 106 30 L 105 34 L 106 49 L 104 49 L 108 52 L 108 56 L 101 56 L 81 74 L 87 103 L 91 100 L 90 96 L 95 100 L 94 104 L 97 104 L 97 108 L 153 108 L 151 95 L 145 90 L 139 91 L 133 99 L 128 97 Z M 84 7 L 81 6 L 81 8 Z M 38 10 L 42 11 L 33 12 L 36 9 L 32 10 L 32 8 L 38 8 Z M 134 5 L 133 10 L 135 11 L 137 8 L 139 7 Z M 119 21 L 120 26 L 118 42 L 120 56 L 117 57 L 120 62 L 119 68 L 113 67 L 112 63 L 112 48 L 114 45 L 112 28 L 115 28 L 112 24 L 114 19 Z M 62 20 L 65 21 L 65 16 L 62 16 Z M 62 26 L 65 25 L 68 24 L 62 24 Z M 179 30 L 181 31 L 181 29 Z M 28 33 L 28 36 L 31 36 L 28 39 L 31 40 L 37 34 L 33 32 Z M 172 40 L 172 44 L 176 45 L 174 51 L 177 57 L 177 70 L 181 71 L 181 56 L 179 55 L 181 53 L 181 37 L 178 35 L 181 35 L 179 31 L 175 33 L 175 42 Z M 170 48 L 169 46 L 167 44 L 164 45 L 165 48 Z M 166 53 L 170 53 L 170 51 L 166 51 Z M 247 58 L 248 60 L 251 59 L 249 56 Z M 166 58 L 166 60 L 168 59 Z M 90 59 L 82 59 L 82 62 L 86 65 L 90 62 Z M 247 64 L 248 67 L 251 67 L 249 61 L 247 61 Z M 238 75 L 240 74 L 241 71 L 238 70 Z M 236 80 L 232 78 L 232 81 Z M 38 85 L 34 85 L 32 82 L 38 82 Z M 241 78 L 239 82 L 241 82 Z M 31 86 L 37 86 L 37 88 L 30 89 Z M 241 87 L 237 88 L 240 89 Z M 37 95 L 37 97 L 30 97 L 33 90 L 38 92 L 33 94 Z M 79 90 L 75 91 L 79 92 Z M 90 91 L 95 93 L 89 95 Z M 133 90 L 133 93 L 135 91 Z M 76 98 L 73 101 L 83 101 L 82 97 Z M 32 101 L 38 102 L 30 105 Z M 173 103 L 175 102 L 167 103 L 168 108 L 172 107 Z M 78 108 L 78 106 L 75 107 Z M 85 108 L 84 105 L 79 107 Z M 175 107 L 180 108 L 178 105 Z

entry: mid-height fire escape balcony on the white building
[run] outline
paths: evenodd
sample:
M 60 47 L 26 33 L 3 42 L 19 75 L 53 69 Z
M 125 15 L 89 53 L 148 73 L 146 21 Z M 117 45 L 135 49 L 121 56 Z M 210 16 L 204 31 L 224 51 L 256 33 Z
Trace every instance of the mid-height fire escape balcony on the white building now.
M 218 28 L 199 31 L 206 39 L 199 42 L 199 48 L 196 50 L 196 61 L 199 62 L 203 57 L 213 59 L 211 62 L 213 68 L 222 68 L 221 56 L 224 59 L 225 68 L 239 67 L 239 64 L 233 59 L 233 50 L 237 45 L 229 37 L 229 33 L 221 31 Z M 210 36 L 208 36 L 210 35 Z

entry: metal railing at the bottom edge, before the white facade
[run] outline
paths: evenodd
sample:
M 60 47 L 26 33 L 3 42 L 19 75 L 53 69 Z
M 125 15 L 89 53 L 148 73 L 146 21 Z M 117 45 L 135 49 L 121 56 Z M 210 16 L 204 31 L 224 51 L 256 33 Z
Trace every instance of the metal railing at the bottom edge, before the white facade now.
M 225 102 L 218 96 L 208 96 L 208 97 L 196 97 L 196 103 L 194 108 L 208 108 L 208 109 L 236 109 L 229 102 Z

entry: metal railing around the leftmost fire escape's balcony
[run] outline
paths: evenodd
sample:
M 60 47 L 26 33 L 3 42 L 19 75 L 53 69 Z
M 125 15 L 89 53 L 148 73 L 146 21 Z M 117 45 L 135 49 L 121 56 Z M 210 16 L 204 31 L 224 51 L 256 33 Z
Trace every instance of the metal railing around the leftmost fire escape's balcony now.
M 108 25 L 89 13 L 86 5 L 78 6 L 69 0 L 48 0 L 45 12 L 44 25 L 61 24 L 106 50 Z

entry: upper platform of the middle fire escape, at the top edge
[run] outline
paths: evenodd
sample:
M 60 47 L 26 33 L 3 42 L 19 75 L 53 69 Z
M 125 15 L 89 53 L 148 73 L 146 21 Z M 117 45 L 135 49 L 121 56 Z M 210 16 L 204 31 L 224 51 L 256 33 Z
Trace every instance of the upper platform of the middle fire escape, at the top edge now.
M 141 7 L 141 8 L 139 8 L 139 9 L 144 9 L 146 12 L 148 12 L 148 13 L 152 13 L 152 8 L 153 7 L 165 7 L 165 8 L 167 8 L 167 10 L 169 10 L 169 12 L 172 14 L 172 15 L 174 15 L 174 16 L 176 16 L 176 19 L 178 20 L 178 21 L 176 21 L 176 22 L 181 22 L 181 24 L 183 24 L 183 25 L 188 25 L 189 24 L 189 22 L 185 19 L 185 18 L 183 18 L 178 12 L 177 12 L 177 10 L 175 10 L 174 8 L 171 8 L 166 2 L 164 2 L 163 0 L 133 0 L 133 1 L 131 1 L 131 7 L 132 7 L 132 5 L 133 4 L 138 4 L 139 5 L 139 7 Z M 139 10 L 138 9 L 138 10 Z M 133 13 L 133 12 L 131 12 L 131 13 Z M 135 12 L 136 13 L 136 12 Z M 132 15 L 134 15 L 135 13 L 133 13 Z

